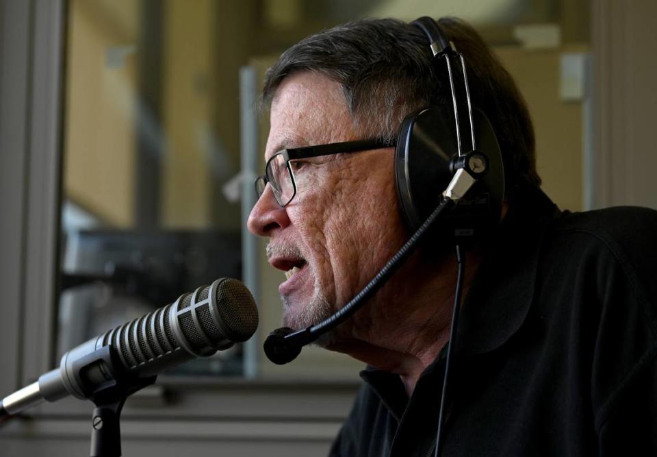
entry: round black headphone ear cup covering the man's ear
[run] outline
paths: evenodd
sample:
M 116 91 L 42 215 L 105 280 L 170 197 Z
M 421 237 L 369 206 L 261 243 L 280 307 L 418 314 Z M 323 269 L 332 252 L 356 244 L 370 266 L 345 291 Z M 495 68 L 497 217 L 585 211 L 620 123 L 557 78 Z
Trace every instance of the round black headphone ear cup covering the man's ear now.
M 445 245 L 467 245 L 484 236 L 502 214 L 502 153 L 485 114 L 476 109 L 472 114 L 477 150 L 488 157 L 489 171 L 450 214 L 437 222 L 433 233 L 443 238 Z M 395 153 L 395 173 L 400 208 L 411 232 L 436 208 L 452 180 L 450 160 L 457 155 L 454 115 L 449 107 L 430 106 L 404 119 Z

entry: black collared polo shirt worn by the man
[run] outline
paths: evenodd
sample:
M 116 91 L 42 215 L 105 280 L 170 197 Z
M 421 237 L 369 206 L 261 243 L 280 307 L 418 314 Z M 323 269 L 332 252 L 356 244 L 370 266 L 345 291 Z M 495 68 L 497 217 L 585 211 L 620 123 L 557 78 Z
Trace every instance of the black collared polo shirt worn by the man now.
M 657 212 L 524 189 L 461 307 L 443 456 L 657 455 Z M 375 369 L 332 456 L 427 456 L 444 357 L 411 399 Z

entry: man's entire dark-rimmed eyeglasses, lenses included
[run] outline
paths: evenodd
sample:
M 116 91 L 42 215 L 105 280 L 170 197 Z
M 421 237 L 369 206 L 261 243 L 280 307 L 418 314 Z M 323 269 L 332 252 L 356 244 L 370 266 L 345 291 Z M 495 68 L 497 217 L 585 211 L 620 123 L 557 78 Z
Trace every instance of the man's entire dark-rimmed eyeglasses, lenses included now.
M 394 143 L 389 143 L 381 139 L 344 141 L 342 143 L 331 143 L 329 145 L 317 145 L 307 147 L 295 147 L 292 149 L 283 149 L 276 152 L 267 161 L 265 174 L 255 178 L 255 192 L 258 198 L 265 191 L 267 183 L 272 185 L 274 198 L 281 206 L 286 206 L 296 195 L 296 184 L 294 182 L 294 171 L 289 165 L 290 160 L 331 156 L 331 154 L 351 153 L 370 151 L 372 149 L 383 149 L 385 147 L 394 147 Z

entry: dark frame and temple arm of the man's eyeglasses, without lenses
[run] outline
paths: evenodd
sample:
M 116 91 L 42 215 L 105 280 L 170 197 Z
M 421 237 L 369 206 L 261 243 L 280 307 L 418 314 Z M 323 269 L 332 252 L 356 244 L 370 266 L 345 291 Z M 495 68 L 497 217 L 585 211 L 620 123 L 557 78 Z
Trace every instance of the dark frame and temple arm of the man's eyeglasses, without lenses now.
M 294 196 L 296 195 L 296 182 L 294 181 L 294 171 L 292 171 L 292 167 L 289 166 L 290 160 L 331 156 L 332 154 L 371 151 L 372 149 L 383 149 L 386 147 L 394 146 L 394 142 L 391 143 L 389 141 L 384 141 L 381 138 L 371 138 L 369 140 L 343 141 L 340 143 L 329 143 L 328 145 L 315 145 L 282 149 L 281 151 L 274 153 L 274 155 L 269 158 L 265 166 L 265 174 L 255 178 L 255 193 L 259 199 L 264 193 L 267 183 L 271 183 L 272 193 L 274 194 L 276 202 L 279 203 L 280 206 L 286 206 L 290 201 L 292 201 L 292 199 L 294 199 Z M 272 160 L 274 160 L 277 156 L 283 156 L 285 159 L 285 169 L 287 170 L 287 175 L 289 176 L 290 182 L 292 182 L 292 196 L 290 196 L 287 201 L 281 200 L 280 186 L 276 183 L 276 180 L 272 175 Z

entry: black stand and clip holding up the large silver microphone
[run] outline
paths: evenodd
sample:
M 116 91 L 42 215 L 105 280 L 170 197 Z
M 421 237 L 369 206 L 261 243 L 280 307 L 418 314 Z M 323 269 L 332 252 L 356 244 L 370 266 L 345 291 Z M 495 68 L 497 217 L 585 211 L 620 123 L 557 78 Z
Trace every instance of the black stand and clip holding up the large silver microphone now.
M 98 367 L 103 380 L 88 378 Z M 155 382 L 157 376 L 136 378 L 123 368 L 113 345 L 107 345 L 80 358 L 73 364 L 75 377 L 85 385 L 93 386 L 93 391 L 86 392 L 88 398 L 96 405 L 91 424 L 90 457 L 119 457 L 121 455 L 120 415 L 125 400 L 141 388 Z M 97 371 L 96 376 L 97 377 Z

